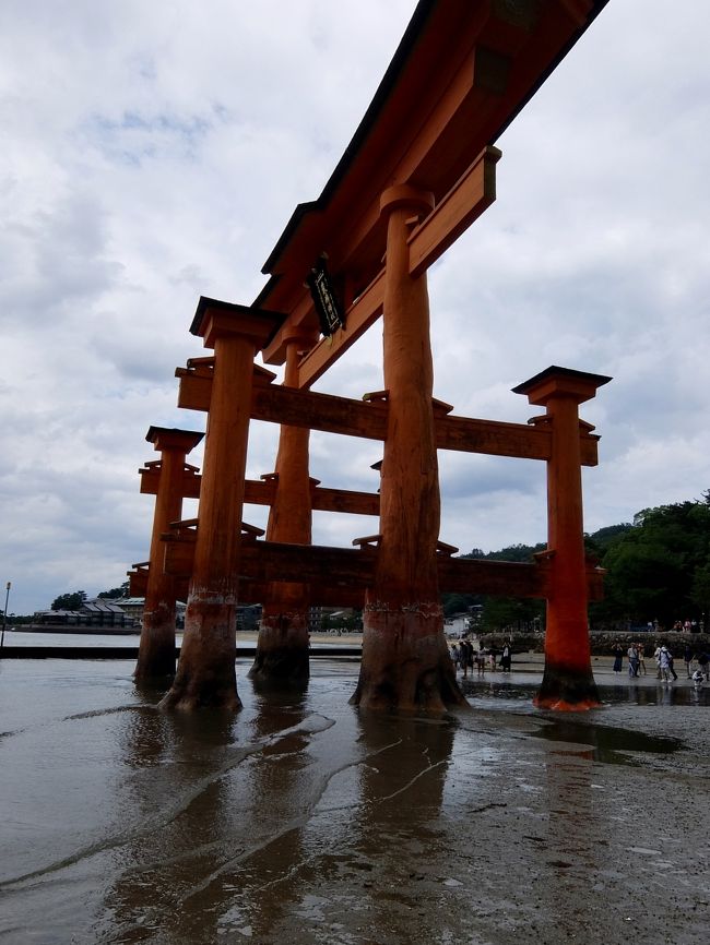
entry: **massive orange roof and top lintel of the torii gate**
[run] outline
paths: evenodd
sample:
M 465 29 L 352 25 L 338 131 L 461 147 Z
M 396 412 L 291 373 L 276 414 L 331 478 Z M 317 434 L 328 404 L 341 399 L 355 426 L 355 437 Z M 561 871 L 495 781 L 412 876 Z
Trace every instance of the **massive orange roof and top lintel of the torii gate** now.
M 297 205 L 263 265 L 270 278 L 253 304 L 287 315 L 264 350 L 268 363 L 283 363 L 286 333 L 318 324 L 304 283 L 322 253 L 346 309 L 378 278 L 384 253 L 379 199 L 384 189 L 410 184 L 430 191 L 436 213 L 462 181 L 469 190 L 458 203 L 471 201 L 478 162 L 477 210 L 459 218 L 448 238 L 439 220 L 436 246 L 422 267 L 489 205 L 495 174 L 488 169 L 499 157 L 490 145 L 607 2 L 421 0 L 321 195 Z M 319 366 L 305 371 L 301 385 L 312 383 L 377 318 L 377 304 L 369 308 L 369 321 L 354 326 L 350 338 L 341 338 Z

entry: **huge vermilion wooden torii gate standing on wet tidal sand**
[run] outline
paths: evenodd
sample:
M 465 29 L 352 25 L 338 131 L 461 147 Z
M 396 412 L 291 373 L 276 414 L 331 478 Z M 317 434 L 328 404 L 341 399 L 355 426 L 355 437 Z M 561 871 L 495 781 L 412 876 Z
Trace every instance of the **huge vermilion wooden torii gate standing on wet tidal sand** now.
M 433 396 L 426 272 L 495 200 L 500 152 L 490 142 L 603 5 L 421 2 L 323 193 L 296 208 L 267 261 L 259 298 L 250 307 L 200 300 L 191 331 L 213 356 L 177 371 L 179 405 L 209 415 L 199 514 L 164 534 L 163 550 L 132 576 L 134 593 L 156 569 L 173 577 L 173 593 L 188 591 L 165 707 L 239 704 L 237 598 L 263 603 L 252 668 L 262 682 L 307 677 L 310 603 L 364 602 L 353 701 L 431 710 L 464 704 L 440 607 L 440 593 L 458 589 L 545 597 L 539 704 L 596 704 L 587 599 L 601 578 L 584 561 L 580 469 L 596 463 L 597 438 L 577 409 L 610 379 L 543 371 L 516 388 L 546 410 L 526 426 L 452 416 Z M 323 259 L 330 275 L 310 291 L 305 282 Z M 363 402 L 312 393 L 380 316 L 383 390 Z M 283 385 L 253 364 L 258 351 L 267 363 L 285 363 Z M 255 482 L 245 480 L 251 419 L 281 424 L 275 470 Z M 379 495 L 310 479 L 311 429 L 381 441 Z M 439 541 L 441 448 L 546 460 L 548 551 L 528 565 L 454 559 L 457 549 Z M 265 540 L 242 522 L 248 502 L 271 509 Z M 355 539 L 356 550 L 313 547 L 312 509 L 379 512 L 379 530 Z

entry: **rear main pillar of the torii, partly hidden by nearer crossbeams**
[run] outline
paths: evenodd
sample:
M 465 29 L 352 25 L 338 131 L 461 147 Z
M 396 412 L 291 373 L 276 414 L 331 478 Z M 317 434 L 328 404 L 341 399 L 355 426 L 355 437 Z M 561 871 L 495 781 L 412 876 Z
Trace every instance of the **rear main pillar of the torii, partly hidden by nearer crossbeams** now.
M 285 387 L 298 386 L 298 362 L 317 340 L 301 326 L 287 330 Z M 311 480 L 308 475 L 310 430 L 282 426 L 275 466 L 275 497 L 269 514 L 268 541 L 311 543 Z M 274 582 L 262 602 L 257 654 L 249 677 L 260 683 L 301 685 L 309 677 L 307 585 Z

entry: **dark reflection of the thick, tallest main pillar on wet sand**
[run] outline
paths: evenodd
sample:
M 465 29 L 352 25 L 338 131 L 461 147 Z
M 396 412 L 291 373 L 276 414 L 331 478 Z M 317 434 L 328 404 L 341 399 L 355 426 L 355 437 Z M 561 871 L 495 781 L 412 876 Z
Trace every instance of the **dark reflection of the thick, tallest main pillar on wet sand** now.
M 344 930 L 356 934 L 360 924 L 384 923 L 381 934 L 391 924 L 392 894 L 371 876 L 380 869 L 383 845 L 399 851 L 407 871 L 422 852 L 423 825 L 440 805 L 451 738 L 427 722 L 363 720 L 355 709 L 339 725 L 342 739 L 335 751 L 331 743 L 327 761 L 318 745 L 309 745 L 308 757 L 284 757 L 274 768 L 281 778 L 284 764 L 287 769 L 296 762 L 291 803 L 303 817 L 277 845 L 249 858 L 241 882 L 233 886 L 222 932 L 287 942 L 296 920 L 299 942 L 332 942 Z M 264 797 L 274 797 L 274 783 L 262 787 L 268 787 Z M 392 874 L 389 884 L 402 895 L 401 877 Z

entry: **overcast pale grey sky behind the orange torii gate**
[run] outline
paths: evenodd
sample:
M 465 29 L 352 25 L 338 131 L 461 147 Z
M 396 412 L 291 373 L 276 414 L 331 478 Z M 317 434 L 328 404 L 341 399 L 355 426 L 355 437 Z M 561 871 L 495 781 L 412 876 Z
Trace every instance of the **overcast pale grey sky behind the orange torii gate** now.
M 197 301 L 256 298 L 414 8 L 0 4 L 10 612 L 93 596 L 147 558 L 147 428 L 204 429 L 175 406 L 175 368 L 206 354 L 188 331 Z M 705 0 L 611 0 L 497 142 L 497 202 L 429 274 L 435 395 L 454 412 L 524 422 L 539 410 L 510 388 L 547 366 L 613 375 L 581 410 L 602 435 L 584 473 L 588 531 L 710 488 L 709 33 Z M 380 388 L 380 352 L 377 325 L 317 390 Z M 252 424 L 248 475 L 272 471 L 276 432 Z M 311 443 L 324 486 L 377 488 L 381 444 Z M 443 541 L 468 552 L 544 540 L 544 464 L 439 462 Z M 313 537 L 348 546 L 376 524 L 318 513 Z

